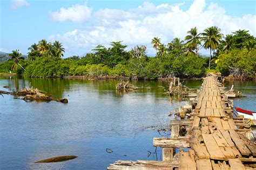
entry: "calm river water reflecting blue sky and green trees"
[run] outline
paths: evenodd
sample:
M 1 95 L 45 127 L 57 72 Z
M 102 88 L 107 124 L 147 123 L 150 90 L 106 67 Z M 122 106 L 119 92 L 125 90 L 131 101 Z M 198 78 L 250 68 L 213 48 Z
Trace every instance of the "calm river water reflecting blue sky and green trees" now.
M 167 125 L 169 112 L 185 101 L 165 96 L 166 81 L 132 81 L 150 90 L 121 93 L 117 80 L 0 78 L 0 90 L 15 91 L 29 85 L 68 98 L 68 104 L 25 102 L 0 96 L 0 169 L 106 169 L 122 160 L 160 160 L 152 146 L 160 134 L 149 126 Z M 199 88 L 202 81 L 184 81 Z M 256 81 L 227 81 L 246 97 L 234 105 L 256 110 Z M 8 85 L 9 89 L 3 86 Z M 161 134 L 167 135 L 167 134 Z M 113 152 L 107 153 L 109 148 Z M 149 152 L 148 152 L 149 151 Z M 151 152 L 151 154 L 150 154 Z M 34 164 L 58 155 L 77 155 L 65 162 Z M 157 158 L 156 158 L 157 156 Z

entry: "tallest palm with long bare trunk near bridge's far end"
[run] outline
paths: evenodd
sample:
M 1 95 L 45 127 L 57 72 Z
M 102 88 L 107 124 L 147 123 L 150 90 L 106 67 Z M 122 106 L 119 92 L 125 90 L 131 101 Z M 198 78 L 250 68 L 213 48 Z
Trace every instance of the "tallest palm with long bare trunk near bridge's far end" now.
M 214 50 L 218 48 L 220 40 L 223 37 L 223 34 L 220 33 L 220 29 L 217 26 L 211 26 L 210 28 L 205 29 L 204 32 L 201 33 L 201 35 L 203 36 L 201 39 L 204 41 L 203 47 L 205 49 L 210 49 L 210 69 L 212 50 L 214 54 Z

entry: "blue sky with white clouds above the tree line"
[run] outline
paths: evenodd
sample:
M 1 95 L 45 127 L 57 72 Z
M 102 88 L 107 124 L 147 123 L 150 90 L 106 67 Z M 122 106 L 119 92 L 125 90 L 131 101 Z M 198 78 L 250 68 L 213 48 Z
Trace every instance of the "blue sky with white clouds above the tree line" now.
M 41 39 L 63 43 L 65 57 L 82 55 L 98 44 L 123 40 L 154 53 L 154 36 L 167 44 L 197 26 L 216 25 L 226 35 L 238 29 L 256 34 L 256 1 L 1 1 L 0 51 L 23 54 Z M 201 50 L 205 53 L 205 50 Z

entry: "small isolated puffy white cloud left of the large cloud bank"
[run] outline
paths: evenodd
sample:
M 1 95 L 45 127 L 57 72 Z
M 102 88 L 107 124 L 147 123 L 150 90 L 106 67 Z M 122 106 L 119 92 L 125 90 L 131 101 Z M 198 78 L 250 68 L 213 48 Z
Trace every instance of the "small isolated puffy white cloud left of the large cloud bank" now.
M 87 6 L 87 2 L 83 5 L 72 5 L 70 8 L 60 8 L 56 12 L 50 12 L 53 21 L 64 22 L 85 22 L 91 17 L 92 8 Z

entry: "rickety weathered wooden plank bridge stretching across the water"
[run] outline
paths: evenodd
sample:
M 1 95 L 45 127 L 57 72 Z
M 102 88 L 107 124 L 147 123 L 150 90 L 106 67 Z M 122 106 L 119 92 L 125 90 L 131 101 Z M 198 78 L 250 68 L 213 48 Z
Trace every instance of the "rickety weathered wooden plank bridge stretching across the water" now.
M 163 148 L 163 160 L 119 160 L 108 169 L 256 169 L 251 130 L 242 118 L 233 118 L 215 77 L 204 79 L 192 108 L 190 119 L 171 121 L 170 138 L 153 138 L 153 146 Z M 180 126 L 187 127 L 185 136 L 179 135 Z

